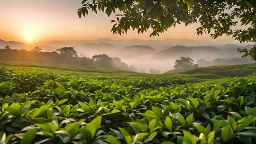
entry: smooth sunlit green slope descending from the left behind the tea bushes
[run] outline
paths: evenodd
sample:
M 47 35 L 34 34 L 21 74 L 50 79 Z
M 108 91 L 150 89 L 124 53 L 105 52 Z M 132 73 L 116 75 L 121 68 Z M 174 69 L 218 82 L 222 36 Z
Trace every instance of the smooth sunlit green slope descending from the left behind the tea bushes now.
M 184 73 L 171 73 L 171 74 L 147 74 L 138 72 L 128 72 L 122 70 L 105 69 L 94 66 L 73 66 L 64 64 L 42 64 L 42 63 L 29 63 L 29 62 L 17 62 L 17 61 L 0 61 L 0 66 L 10 66 L 10 67 L 22 67 L 22 68 L 37 68 L 40 71 L 51 71 L 54 73 L 62 73 L 65 75 L 75 75 L 79 77 L 98 77 L 107 76 L 112 78 L 124 78 L 124 77 L 145 77 L 152 78 L 158 77 L 163 79 L 184 79 L 184 80 L 207 80 L 207 79 L 217 79 L 223 78 L 214 74 L 205 73 L 194 73 L 194 74 L 184 74 Z

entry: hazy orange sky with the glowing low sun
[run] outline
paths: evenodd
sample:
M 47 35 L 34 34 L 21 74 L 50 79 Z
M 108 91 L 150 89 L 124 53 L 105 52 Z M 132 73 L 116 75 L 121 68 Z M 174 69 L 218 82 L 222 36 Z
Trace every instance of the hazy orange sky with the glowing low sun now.
M 77 9 L 82 0 L 0 0 L 0 38 L 26 44 L 54 40 L 113 39 L 166 39 L 188 38 L 212 41 L 208 35 L 197 36 L 197 25 L 172 27 L 159 37 L 149 38 L 149 33 L 138 35 L 113 35 L 112 24 L 105 14 L 89 12 L 86 18 L 78 18 Z M 30 41 L 30 42 L 29 42 Z M 218 42 L 233 43 L 230 37 L 221 37 Z

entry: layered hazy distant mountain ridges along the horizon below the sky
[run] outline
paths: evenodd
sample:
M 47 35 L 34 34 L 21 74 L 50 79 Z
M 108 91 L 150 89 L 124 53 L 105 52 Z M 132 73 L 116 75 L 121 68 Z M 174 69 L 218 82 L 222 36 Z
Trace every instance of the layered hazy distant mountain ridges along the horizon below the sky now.
M 5 41 L 0 39 L 0 47 L 9 45 L 12 49 L 33 49 L 39 46 L 43 51 L 55 51 L 61 47 L 75 47 L 79 54 L 91 56 L 94 54 L 110 54 L 110 56 L 119 56 L 124 51 L 126 54 L 152 54 L 154 58 L 179 58 L 182 56 L 202 56 L 206 54 L 216 54 L 217 57 L 240 56 L 238 48 L 250 48 L 253 45 L 215 45 L 215 46 L 198 46 L 202 45 L 200 41 L 191 39 L 164 39 L 164 40 L 142 40 L 142 39 L 110 39 L 99 38 L 96 40 L 64 40 L 42 43 L 40 45 L 28 46 L 20 42 Z M 144 45 L 140 47 L 135 45 Z M 180 46 L 178 46 L 180 45 Z M 208 43 L 207 45 L 210 45 Z M 127 47 L 130 47 L 129 49 Z M 154 47 L 154 48 L 153 48 Z M 127 50 L 128 49 L 128 50 Z M 150 50 L 151 49 L 151 50 Z M 153 50 L 154 49 L 154 50 Z M 221 53 L 219 52 L 222 51 Z M 128 52 L 130 51 L 130 52 Z M 146 51 L 146 52 L 143 52 Z M 232 52 L 230 54 L 230 52 Z M 132 55 L 131 55 L 132 56 Z M 215 57 L 216 58 L 216 57 Z

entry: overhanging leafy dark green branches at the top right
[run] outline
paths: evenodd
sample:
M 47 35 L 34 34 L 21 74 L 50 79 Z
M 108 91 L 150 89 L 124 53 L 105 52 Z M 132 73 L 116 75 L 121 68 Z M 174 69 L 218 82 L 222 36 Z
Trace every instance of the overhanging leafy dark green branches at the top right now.
M 79 17 L 89 10 L 116 14 L 111 20 L 113 34 L 125 34 L 128 29 L 144 33 L 151 28 L 150 36 L 159 36 L 177 24 L 199 23 L 198 35 L 227 35 L 240 43 L 256 43 L 256 0 L 82 0 Z M 256 60 L 256 46 L 240 52 Z

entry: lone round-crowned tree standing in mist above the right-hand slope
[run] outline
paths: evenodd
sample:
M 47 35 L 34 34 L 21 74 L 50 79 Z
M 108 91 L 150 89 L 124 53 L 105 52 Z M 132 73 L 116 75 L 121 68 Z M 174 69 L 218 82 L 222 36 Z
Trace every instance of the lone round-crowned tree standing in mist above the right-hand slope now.
M 194 61 L 190 57 L 181 57 L 180 59 L 175 61 L 174 69 L 192 69 L 198 68 L 198 64 L 194 64 Z

